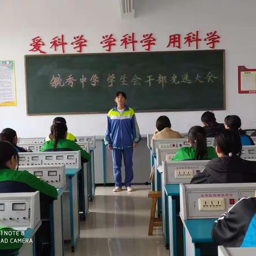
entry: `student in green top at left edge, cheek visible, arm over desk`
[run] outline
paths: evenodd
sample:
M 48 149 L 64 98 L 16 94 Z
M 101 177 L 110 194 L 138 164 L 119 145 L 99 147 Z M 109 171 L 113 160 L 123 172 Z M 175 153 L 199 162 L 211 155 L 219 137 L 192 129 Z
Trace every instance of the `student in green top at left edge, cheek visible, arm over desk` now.
M 41 219 L 49 217 L 50 203 L 58 197 L 57 189 L 27 171 L 15 170 L 17 166 L 19 166 L 17 150 L 10 142 L 0 141 L 0 193 L 39 191 Z M 38 252 L 43 250 L 43 244 L 50 245 L 49 225 L 49 223 L 43 222 L 36 233 Z M 50 248 L 48 249 L 50 250 Z M 44 255 L 49 255 L 47 252 Z

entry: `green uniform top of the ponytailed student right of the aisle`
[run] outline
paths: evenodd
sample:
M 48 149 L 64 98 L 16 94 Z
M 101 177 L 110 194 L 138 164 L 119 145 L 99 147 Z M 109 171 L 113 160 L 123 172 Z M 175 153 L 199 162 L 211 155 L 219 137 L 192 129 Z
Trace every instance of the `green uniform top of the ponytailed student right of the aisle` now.
M 207 154 L 204 159 L 213 159 L 218 157 L 213 147 L 207 147 Z M 182 147 L 172 158 L 172 161 L 183 161 L 183 160 L 195 160 L 195 148 L 194 147 Z M 202 159 L 203 160 L 203 159 Z

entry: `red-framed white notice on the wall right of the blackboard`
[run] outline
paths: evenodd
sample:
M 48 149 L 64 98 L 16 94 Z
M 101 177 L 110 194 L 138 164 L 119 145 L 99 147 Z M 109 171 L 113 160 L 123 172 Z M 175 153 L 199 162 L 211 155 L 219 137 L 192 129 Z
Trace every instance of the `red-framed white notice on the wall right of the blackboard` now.
M 256 93 L 256 69 L 238 66 L 238 93 Z

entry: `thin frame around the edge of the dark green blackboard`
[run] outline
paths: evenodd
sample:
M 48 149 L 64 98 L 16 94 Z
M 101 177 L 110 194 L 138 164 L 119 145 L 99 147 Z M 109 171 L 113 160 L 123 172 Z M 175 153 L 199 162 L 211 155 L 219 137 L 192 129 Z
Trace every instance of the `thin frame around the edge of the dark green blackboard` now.
M 150 52 L 153 54 L 157 54 L 157 53 L 173 53 L 173 54 L 179 54 L 180 52 L 213 52 L 213 51 L 219 51 L 222 52 L 223 55 L 223 108 L 202 108 L 202 109 L 174 109 L 174 110 L 170 110 L 170 109 L 151 109 L 151 110 L 136 110 L 136 113 L 153 113 L 153 112 L 178 112 L 178 111 L 205 111 L 205 110 L 225 110 L 226 109 L 226 80 L 225 80 L 225 76 L 226 76 L 226 69 L 225 69 L 225 50 L 224 49 L 214 49 L 214 50 L 188 50 L 188 51 L 154 51 L 154 52 Z M 105 52 L 101 52 L 101 53 L 68 53 L 68 54 L 28 54 L 24 56 L 24 61 L 25 61 L 25 83 L 26 83 L 26 111 L 27 111 L 27 116 L 41 116 L 41 115 L 83 115 L 83 114 L 106 114 L 108 113 L 108 109 L 106 111 L 86 111 L 86 112 L 71 112 L 71 113 L 66 113 L 66 112 L 53 112 L 53 113 L 29 113 L 28 111 L 28 88 L 27 88 L 27 66 L 26 66 L 26 58 L 27 57 L 51 57 L 51 56 L 78 56 L 78 55 L 115 55 L 115 54 L 147 54 L 148 52 L 111 52 L 111 53 L 105 53 Z M 114 99 L 113 99 L 113 106 L 115 105 L 114 103 Z M 132 107 L 132 106 L 131 106 Z

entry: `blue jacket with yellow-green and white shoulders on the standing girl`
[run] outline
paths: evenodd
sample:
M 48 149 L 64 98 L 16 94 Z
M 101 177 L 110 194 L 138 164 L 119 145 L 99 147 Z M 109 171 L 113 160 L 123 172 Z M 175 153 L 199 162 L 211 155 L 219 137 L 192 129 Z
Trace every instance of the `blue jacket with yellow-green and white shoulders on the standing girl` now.
M 116 107 L 109 110 L 104 138 L 105 145 L 111 145 L 117 149 L 127 149 L 132 147 L 132 143 L 138 143 L 140 139 L 139 126 L 132 108 L 125 105 L 121 115 Z

